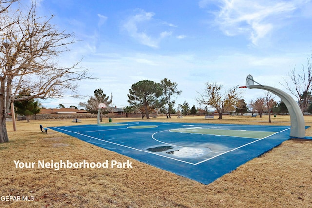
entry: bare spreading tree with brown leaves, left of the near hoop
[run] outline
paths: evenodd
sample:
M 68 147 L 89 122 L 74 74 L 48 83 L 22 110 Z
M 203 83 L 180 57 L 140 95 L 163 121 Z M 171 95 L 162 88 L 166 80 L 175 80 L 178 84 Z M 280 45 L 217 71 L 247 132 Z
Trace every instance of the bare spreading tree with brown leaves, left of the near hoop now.
M 215 82 L 206 83 L 204 94 L 199 93 L 199 98 L 196 101 L 199 104 L 209 105 L 216 109 L 219 113 L 219 119 L 222 119 L 222 114 L 234 110 L 234 105 L 240 99 L 240 92 L 238 86 L 229 88 L 222 93 L 223 86 Z

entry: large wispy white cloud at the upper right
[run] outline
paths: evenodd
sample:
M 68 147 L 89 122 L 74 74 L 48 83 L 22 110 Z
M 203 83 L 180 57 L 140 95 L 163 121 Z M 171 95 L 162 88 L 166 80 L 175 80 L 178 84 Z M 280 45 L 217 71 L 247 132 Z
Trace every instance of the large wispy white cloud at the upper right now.
M 290 18 L 306 0 L 221 0 L 215 13 L 216 23 L 228 36 L 248 35 L 254 45 L 268 36 L 281 20 Z M 208 8 L 209 1 L 201 0 L 199 7 Z

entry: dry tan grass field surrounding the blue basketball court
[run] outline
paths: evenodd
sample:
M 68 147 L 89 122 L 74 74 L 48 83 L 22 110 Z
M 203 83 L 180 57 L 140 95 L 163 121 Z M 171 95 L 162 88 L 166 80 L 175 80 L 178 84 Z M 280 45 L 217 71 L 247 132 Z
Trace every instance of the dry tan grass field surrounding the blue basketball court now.
M 152 118 L 160 122 L 199 122 L 270 125 L 268 117 L 224 116 L 204 120 Z M 142 119 L 113 119 L 113 122 Z M 146 119 L 144 119 L 146 120 Z M 305 117 L 312 125 L 312 117 Z M 7 122 L 10 142 L 0 144 L 0 207 L 137 208 L 250 207 L 308 208 L 312 205 L 312 141 L 291 139 L 238 167 L 209 185 L 138 162 L 43 126 L 95 124 L 96 119 Z M 272 118 L 271 125 L 290 125 L 289 116 Z M 312 128 L 306 130 L 312 136 Z M 81 169 L 15 168 L 14 161 L 131 161 L 132 168 Z M 9 196 L 24 197 L 10 199 Z M 28 197 L 28 198 L 27 198 Z M 22 198 L 21 198 L 22 199 Z M 29 201 L 25 201 L 28 199 Z

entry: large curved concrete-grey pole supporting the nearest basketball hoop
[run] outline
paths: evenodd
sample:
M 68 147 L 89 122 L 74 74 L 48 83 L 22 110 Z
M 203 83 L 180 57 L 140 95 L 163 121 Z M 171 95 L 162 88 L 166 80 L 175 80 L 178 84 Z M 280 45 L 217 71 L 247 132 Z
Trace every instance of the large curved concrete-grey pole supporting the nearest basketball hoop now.
M 291 117 L 290 136 L 297 137 L 297 138 L 305 137 L 306 129 L 305 129 L 303 114 L 297 102 L 290 95 L 288 95 L 287 93 L 285 93 L 284 91 L 278 88 L 265 86 L 265 85 L 250 85 L 249 88 L 267 90 L 279 96 L 282 99 L 282 101 L 285 103 L 288 109 L 289 115 Z

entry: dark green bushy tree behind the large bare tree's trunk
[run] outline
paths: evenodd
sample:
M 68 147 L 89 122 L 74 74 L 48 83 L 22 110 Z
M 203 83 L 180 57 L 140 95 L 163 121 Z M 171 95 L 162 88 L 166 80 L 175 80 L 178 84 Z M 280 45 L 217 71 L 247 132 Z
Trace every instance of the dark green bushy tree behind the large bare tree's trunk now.
M 29 92 L 20 92 L 17 97 L 29 96 Z M 40 108 L 38 107 L 38 102 L 34 101 L 34 99 L 23 100 L 14 103 L 15 113 L 19 115 L 26 116 L 27 122 L 29 122 L 30 115 L 36 115 L 40 112 Z

